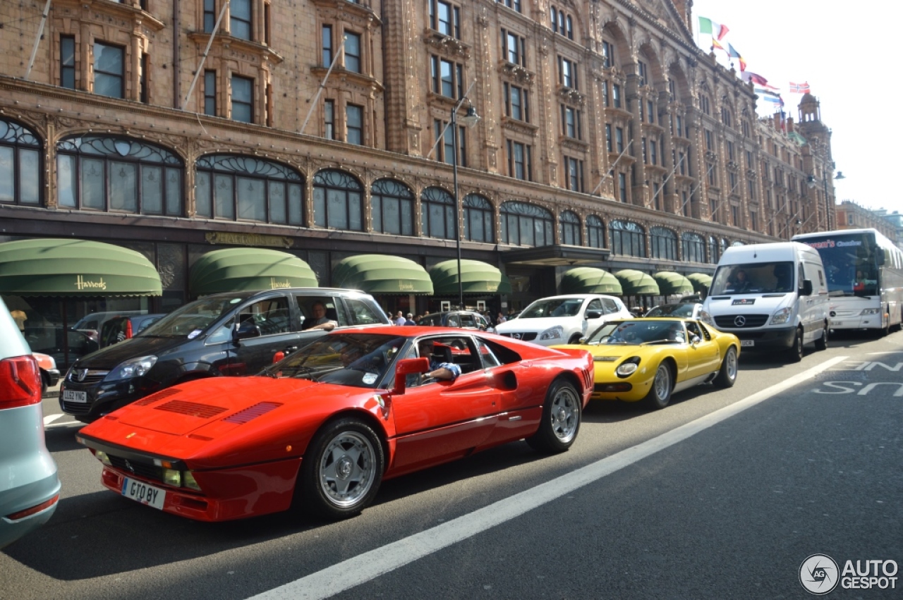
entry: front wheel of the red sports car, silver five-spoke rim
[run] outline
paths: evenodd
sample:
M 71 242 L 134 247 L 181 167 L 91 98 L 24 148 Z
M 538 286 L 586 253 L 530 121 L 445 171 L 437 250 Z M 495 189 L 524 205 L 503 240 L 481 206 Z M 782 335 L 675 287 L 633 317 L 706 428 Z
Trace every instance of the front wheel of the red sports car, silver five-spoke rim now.
M 367 423 L 353 417 L 333 420 L 317 431 L 304 453 L 295 500 L 305 512 L 348 519 L 373 502 L 385 467 L 383 445 Z

